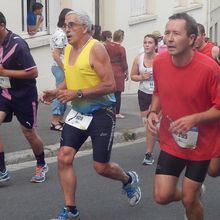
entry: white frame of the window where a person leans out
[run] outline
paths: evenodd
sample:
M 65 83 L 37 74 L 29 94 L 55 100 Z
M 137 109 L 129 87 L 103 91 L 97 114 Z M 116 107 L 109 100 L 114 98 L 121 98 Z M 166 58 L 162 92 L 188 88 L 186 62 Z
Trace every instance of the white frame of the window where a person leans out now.
M 21 0 L 22 7 L 22 35 L 24 38 L 37 37 L 49 34 L 49 0 L 35 0 L 40 2 L 43 7 L 43 17 L 44 21 L 40 30 L 33 36 L 30 36 L 27 32 L 27 0 Z

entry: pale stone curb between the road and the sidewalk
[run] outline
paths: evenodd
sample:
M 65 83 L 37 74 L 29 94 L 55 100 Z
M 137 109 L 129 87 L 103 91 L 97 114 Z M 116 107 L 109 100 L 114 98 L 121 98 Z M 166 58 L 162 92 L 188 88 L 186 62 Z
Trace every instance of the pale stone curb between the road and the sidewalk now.
M 135 129 L 123 129 L 122 132 L 114 133 L 113 147 L 115 144 L 118 144 L 118 143 L 124 143 L 124 142 L 129 142 L 129 141 L 143 138 L 145 137 L 145 135 L 146 135 L 146 131 L 144 127 L 135 128 Z M 91 140 L 88 139 L 83 144 L 80 151 L 91 149 L 91 146 L 92 146 Z M 59 143 L 45 146 L 44 147 L 45 157 L 48 158 L 48 157 L 56 156 L 57 150 L 59 149 L 59 147 L 60 147 Z M 18 164 L 18 163 L 35 160 L 35 157 L 31 149 L 6 153 L 5 158 L 6 158 L 7 165 Z

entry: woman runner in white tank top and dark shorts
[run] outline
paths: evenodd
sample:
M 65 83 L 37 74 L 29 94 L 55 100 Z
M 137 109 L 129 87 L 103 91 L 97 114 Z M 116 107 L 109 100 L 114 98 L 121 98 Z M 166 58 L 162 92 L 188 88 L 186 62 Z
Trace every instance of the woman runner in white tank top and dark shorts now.
M 146 125 L 146 117 L 149 112 L 152 94 L 154 90 L 153 80 L 153 60 L 156 57 L 157 38 L 152 34 L 144 36 L 143 48 L 144 53 L 138 54 L 132 65 L 131 80 L 139 82 L 138 104 L 140 107 L 141 117 Z M 146 153 L 143 165 L 152 165 L 154 163 L 153 147 L 155 144 L 155 135 L 149 131 L 146 126 Z

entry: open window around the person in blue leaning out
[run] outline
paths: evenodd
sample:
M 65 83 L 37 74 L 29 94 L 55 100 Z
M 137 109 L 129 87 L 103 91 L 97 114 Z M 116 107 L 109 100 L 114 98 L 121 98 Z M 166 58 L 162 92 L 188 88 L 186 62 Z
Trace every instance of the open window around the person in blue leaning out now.
M 27 34 L 27 13 L 28 11 L 32 10 L 32 5 L 35 2 L 40 2 L 43 7 L 43 23 L 38 30 L 36 35 L 44 35 L 48 33 L 48 23 L 49 23 L 49 0 L 21 0 L 21 7 L 22 7 L 22 32 Z

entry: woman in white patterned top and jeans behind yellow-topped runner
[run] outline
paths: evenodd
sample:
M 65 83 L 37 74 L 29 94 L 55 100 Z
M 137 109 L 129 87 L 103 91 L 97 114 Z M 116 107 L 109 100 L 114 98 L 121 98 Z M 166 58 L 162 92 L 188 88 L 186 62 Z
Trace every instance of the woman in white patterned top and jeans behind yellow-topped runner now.
M 69 8 L 64 8 L 59 15 L 57 28 L 51 38 L 51 51 L 54 59 L 54 63 L 51 67 L 51 71 L 56 80 L 56 87 L 64 80 L 64 47 L 67 45 L 66 33 L 63 30 L 65 21 L 65 15 L 71 11 Z M 50 129 L 54 131 L 62 131 L 63 129 L 63 116 L 66 110 L 66 103 L 61 103 L 58 99 L 54 99 L 52 102 L 52 120 Z

